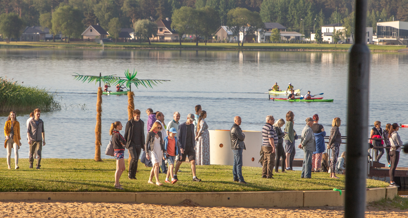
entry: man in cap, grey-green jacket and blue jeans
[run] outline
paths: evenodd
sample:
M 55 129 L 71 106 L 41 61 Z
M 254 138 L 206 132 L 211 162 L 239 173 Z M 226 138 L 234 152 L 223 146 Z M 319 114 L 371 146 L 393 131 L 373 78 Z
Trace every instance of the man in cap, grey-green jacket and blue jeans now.
M 298 148 L 303 149 L 303 164 L 302 174 L 300 178 L 312 178 L 312 154 L 316 151 L 315 135 L 313 134 L 312 126 L 313 118 L 308 117 L 306 119 L 306 126 L 302 130 L 302 139 Z

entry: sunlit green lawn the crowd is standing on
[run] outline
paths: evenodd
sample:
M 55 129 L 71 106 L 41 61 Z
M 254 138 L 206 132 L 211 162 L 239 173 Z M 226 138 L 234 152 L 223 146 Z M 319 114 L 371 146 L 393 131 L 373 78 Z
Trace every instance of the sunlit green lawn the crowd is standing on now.
M 13 160 L 11 160 L 13 163 Z M 0 159 L 0 192 L 117 192 L 114 189 L 116 163 L 113 159 L 95 162 L 92 159 L 42 159 L 42 170 L 28 168 L 28 160 L 19 160 L 19 170 L 7 170 L 6 159 Z M 178 173 L 179 181 L 158 187 L 147 183 L 151 168 L 139 163 L 137 180 L 129 180 L 127 171 L 120 183 L 124 192 L 242 192 L 283 190 L 333 190 L 344 189 L 344 176 L 329 178 L 327 173 L 313 173 L 312 179 L 300 178 L 300 171 L 275 173 L 275 179 L 263 179 L 262 168 L 243 167 L 248 185 L 232 182 L 232 166 L 197 166 L 197 176 L 202 182 L 193 182 L 189 163 L 183 163 Z M 126 169 L 128 167 L 126 161 Z M 388 183 L 367 180 L 367 187 L 387 187 Z

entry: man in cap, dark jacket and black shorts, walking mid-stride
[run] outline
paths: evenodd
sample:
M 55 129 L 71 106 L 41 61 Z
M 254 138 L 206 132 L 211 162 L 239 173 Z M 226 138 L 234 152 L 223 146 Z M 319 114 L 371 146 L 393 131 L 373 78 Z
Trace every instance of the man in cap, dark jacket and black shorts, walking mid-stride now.
M 191 163 L 191 172 L 193 174 L 193 181 L 194 182 L 201 182 L 201 179 L 197 178 L 195 175 L 195 136 L 194 136 L 194 115 L 188 114 L 187 121 L 181 123 L 179 126 L 178 132 L 178 141 L 180 143 L 180 152 L 179 154 L 179 162 L 176 163 L 176 167 L 174 170 L 174 178 L 177 178 L 177 171 L 180 168 L 180 165 L 186 161 L 186 157 L 188 156 L 188 161 Z M 180 157 L 181 156 L 181 157 Z

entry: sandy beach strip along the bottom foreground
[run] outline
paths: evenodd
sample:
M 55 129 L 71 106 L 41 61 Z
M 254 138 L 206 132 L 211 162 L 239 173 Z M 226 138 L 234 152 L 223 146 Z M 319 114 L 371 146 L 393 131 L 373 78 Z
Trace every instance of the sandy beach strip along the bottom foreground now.
M 343 207 L 246 208 L 203 207 L 191 201 L 180 205 L 149 205 L 139 203 L 98 203 L 58 200 L 1 200 L 1 217 L 47 218 L 128 218 L 128 217 L 279 217 L 279 218 L 341 218 Z M 408 211 L 391 208 L 367 207 L 366 218 L 407 217 Z

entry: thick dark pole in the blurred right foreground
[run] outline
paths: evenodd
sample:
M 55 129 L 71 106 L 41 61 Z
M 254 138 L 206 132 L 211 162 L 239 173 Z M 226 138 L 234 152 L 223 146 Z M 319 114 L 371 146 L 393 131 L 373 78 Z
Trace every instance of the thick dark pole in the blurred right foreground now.
M 366 45 L 367 0 L 356 0 L 355 42 L 348 68 L 345 218 L 364 218 L 366 210 L 368 86 L 370 50 Z

